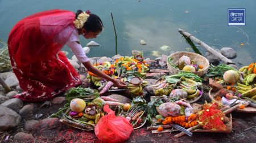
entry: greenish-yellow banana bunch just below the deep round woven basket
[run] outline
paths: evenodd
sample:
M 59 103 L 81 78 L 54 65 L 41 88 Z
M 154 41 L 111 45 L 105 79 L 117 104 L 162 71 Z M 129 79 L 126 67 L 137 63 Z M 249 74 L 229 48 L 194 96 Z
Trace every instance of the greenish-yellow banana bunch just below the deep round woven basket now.
M 197 89 L 197 86 L 201 86 L 202 83 L 193 81 L 192 79 L 187 79 L 185 77 L 181 77 L 180 80 L 180 88 L 188 93 L 188 99 L 192 99 L 199 96 L 200 90 Z

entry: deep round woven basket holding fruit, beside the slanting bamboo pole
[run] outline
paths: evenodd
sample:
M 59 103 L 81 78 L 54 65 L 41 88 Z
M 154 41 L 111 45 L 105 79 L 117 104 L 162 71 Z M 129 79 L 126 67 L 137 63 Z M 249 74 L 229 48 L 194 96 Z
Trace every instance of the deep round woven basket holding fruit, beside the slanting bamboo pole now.
M 192 52 L 188 52 L 188 51 L 179 51 L 179 52 L 169 55 L 168 58 L 171 57 L 173 59 L 171 61 L 171 64 L 175 64 L 177 61 L 179 61 L 180 57 L 182 57 L 183 55 L 186 55 L 191 60 L 194 60 L 196 62 L 196 64 L 203 65 L 203 71 L 193 72 L 196 75 L 203 76 L 208 71 L 208 68 L 210 66 L 208 59 L 204 58 L 203 56 L 196 54 L 196 53 L 192 53 Z M 167 66 L 168 66 L 168 69 L 170 70 L 170 73 L 172 73 L 174 75 L 181 71 L 181 70 L 179 70 L 179 68 L 172 67 L 171 64 L 167 61 Z

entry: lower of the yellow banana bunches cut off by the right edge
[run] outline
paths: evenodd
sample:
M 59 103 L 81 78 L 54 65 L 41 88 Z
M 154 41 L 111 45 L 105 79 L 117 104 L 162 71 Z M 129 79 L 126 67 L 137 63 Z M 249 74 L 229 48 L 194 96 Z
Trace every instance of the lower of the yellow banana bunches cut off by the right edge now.
M 237 83 L 236 89 L 239 93 L 242 94 L 242 96 L 246 96 L 246 97 L 249 97 L 249 98 L 252 98 L 252 99 L 256 99 L 255 85 L 254 85 L 254 88 L 253 88 L 253 86 L 251 86 L 251 85 L 244 85 L 244 84 Z

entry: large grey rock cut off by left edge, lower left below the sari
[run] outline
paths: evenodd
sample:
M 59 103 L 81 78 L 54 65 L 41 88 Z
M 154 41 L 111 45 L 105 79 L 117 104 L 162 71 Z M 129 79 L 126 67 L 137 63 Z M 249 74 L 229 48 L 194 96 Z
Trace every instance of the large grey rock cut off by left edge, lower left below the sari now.
M 0 132 L 16 127 L 20 123 L 21 117 L 8 107 L 0 105 Z

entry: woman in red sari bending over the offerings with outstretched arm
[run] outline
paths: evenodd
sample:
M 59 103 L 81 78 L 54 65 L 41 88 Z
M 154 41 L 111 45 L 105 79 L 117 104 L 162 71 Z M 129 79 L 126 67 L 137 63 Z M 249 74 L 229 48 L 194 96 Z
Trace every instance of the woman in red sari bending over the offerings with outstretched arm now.
M 60 50 L 68 45 L 77 59 L 94 74 L 123 88 L 125 84 L 94 68 L 79 43 L 79 34 L 96 38 L 101 19 L 89 11 L 49 10 L 20 20 L 11 30 L 8 47 L 13 72 L 24 101 L 46 101 L 81 84 L 80 76 Z

